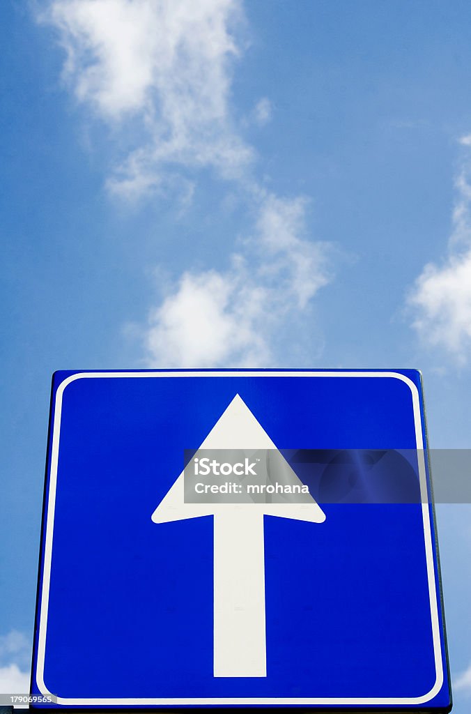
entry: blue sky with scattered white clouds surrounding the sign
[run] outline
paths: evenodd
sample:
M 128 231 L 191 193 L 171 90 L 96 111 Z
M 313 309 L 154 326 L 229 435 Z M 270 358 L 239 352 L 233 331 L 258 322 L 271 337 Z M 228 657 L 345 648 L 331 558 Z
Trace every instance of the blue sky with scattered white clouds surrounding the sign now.
M 6 686 L 55 369 L 417 367 L 470 448 L 471 7 L 8 0 L 0 33 Z M 471 507 L 438 517 L 460 713 Z

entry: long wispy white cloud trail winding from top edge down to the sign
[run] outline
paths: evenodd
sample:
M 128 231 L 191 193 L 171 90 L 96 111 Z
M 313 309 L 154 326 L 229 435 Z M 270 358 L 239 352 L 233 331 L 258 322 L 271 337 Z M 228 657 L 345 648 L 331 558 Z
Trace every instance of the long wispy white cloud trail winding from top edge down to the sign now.
M 191 196 L 199 169 L 232 183 L 250 236 L 227 268 L 186 271 L 149 311 L 141 329 L 151 366 L 261 365 L 274 336 L 331 276 L 329 247 L 310 240 L 306 200 L 268 191 L 256 178 L 256 152 L 231 104 L 242 54 L 239 0 L 54 0 L 41 19 L 66 50 L 64 78 L 76 99 L 113 127 L 131 149 L 108 188 L 138 198 L 178 183 Z M 263 97 L 252 121 L 270 120 Z M 136 333 L 136 331 L 134 331 Z

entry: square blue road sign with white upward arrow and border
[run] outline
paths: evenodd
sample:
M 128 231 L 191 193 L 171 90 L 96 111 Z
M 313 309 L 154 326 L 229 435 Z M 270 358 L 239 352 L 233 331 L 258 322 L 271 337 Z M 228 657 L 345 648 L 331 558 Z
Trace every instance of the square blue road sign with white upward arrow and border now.
M 199 449 L 280 450 L 309 495 L 188 503 Z M 424 449 L 412 370 L 56 373 L 33 695 L 450 710 Z

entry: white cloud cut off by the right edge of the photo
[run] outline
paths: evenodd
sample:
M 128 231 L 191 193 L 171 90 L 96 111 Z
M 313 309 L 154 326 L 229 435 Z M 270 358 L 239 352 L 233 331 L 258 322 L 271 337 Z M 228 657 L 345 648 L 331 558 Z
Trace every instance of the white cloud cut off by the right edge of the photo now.
M 469 136 L 463 146 L 471 145 Z M 422 341 L 443 348 L 460 364 L 471 354 L 471 184 L 463 166 L 456 181 L 448 255 L 441 265 L 427 263 L 408 296 L 412 325 Z

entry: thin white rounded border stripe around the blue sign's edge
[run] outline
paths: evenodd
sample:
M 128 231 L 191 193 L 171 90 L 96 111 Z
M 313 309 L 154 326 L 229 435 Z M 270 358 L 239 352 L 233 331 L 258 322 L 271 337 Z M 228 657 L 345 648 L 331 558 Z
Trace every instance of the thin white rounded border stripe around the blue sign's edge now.
M 418 697 L 402 698 L 356 698 L 356 697 L 328 697 L 328 698 L 279 698 L 279 697 L 253 697 L 253 698 L 131 698 L 131 699 L 70 699 L 58 697 L 61 705 L 69 706 L 155 706 L 155 705 L 226 705 L 226 704 L 277 704 L 277 705 L 405 705 L 422 704 L 430 701 L 442 688 L 443 665 L 442 648 L 440 642 L 440 620 L 438 617 L 437 591 L 435 588 L 435 565 L 433 557 L 432 528 L 430 524 L 430 511 L 427 492 L 427 477 L 425 472 L 425 458 L 423 451 L 422 422 L 420 419 L 420 397 L 415 384 L 404 375 L 397 372 L 277 372 L 277 371 L 231 371 L 231 372 L 82 372 L 67 377 L 56 391 L 56 406 L 54 409 L 54 428 L 52 433 L 51 468 L 49 476 L 49 498 L 46 513 L 46 538 L 44 543 L 44 568 L 41 589 L 41 615 L 39 618 L 38 656 L 36 664 L 36 683 L 43 695 L 53 695 L 44 683 L 44 660 L 46 655 L 46 630 L 49 607 L 49 583 L 51 580 L 52 540 L 54 533 L 54 509 L 56 504 L 57 468 L 59 462 L 59 437 L 61 429 L 62 398 L 69 384 L 77 379 L 91 378 L 159 378 L 159 377 L 379 377 L 395 378 L 409 386 L 412 393 L 414 411 L 416 446 L 419 455 L 420 494 L 422 498 L 422 518 L 425 538 L 425 558 L 427 563 L 428 591 L 430 598 L 430 617 L 432 621 L 432 639 L 435 653 L 436 680 L 432 689 Z

